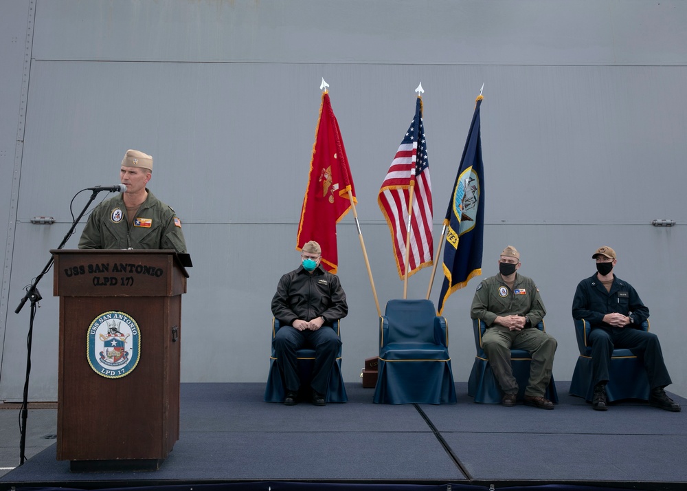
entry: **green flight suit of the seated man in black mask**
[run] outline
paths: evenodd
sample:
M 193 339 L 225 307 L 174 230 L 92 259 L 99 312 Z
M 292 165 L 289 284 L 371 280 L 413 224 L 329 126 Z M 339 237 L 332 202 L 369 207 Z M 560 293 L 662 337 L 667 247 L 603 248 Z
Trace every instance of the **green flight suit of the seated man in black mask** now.
M 509 315 L 527 316 L 530 323 L 521 331 L 510 331 L 494 323 L 497 317 Z M 518 392 L 510 367 L 510 349 L 525 349 L 532 356 L 525 394 L 544 397 L 558 346 L 552 336 L 536 327 L 545 315 L 539 289 L 527 276 L 516 274 L 513 289 L 506 285 L 500 273 L 477 286 L 470 316 L 482 319 L 488 327 L 482 336 L 482 348 L 504 393 Z

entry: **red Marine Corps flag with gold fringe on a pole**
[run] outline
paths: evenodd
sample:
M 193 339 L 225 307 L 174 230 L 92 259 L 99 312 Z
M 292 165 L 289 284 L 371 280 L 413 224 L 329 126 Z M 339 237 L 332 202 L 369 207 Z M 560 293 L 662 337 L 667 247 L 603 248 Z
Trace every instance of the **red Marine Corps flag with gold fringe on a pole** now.
M 332 273 L 337 272 L 339 264 L 337 223 L 350 210 L 351 197 L 357 202 L 339 123 L 334 116 L 329 94 L 324 91 L 310 162 L 308 188 L 303 197 L 298 224 L 296 249 L 302 250 L 308 241 L 319 242 L 322 247 L 322 265 Z

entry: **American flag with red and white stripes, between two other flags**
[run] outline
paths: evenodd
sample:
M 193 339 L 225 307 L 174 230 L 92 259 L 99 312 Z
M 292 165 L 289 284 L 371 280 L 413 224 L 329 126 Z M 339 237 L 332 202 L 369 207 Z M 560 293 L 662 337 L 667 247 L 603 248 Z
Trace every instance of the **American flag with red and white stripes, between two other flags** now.
M 410 188 L 414 186 L 408 276 L 432 264 L 432 204 L 423 102 L 418 96 L 415 118 L 387 172 L 377 203 L 391 230 L 398 276 L 405 276 L 405 240 Z

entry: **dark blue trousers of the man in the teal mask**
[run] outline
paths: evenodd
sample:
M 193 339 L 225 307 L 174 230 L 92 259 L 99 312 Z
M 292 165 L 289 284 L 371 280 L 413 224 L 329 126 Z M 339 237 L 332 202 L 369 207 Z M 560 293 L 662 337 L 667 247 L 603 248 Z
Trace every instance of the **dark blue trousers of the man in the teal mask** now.
M 323 325 L 317 331 L 299 331 L 293 326 L 279 328 L 272 341 L 277 366 L 284 375 L 287 392 L 297 393 L 300 389 L 296 351 L 302 348 L 315 349 L 313 367 L 313 391 L 326 395 L 332 367 L 337 360 L 341 340 L 331 326 Z

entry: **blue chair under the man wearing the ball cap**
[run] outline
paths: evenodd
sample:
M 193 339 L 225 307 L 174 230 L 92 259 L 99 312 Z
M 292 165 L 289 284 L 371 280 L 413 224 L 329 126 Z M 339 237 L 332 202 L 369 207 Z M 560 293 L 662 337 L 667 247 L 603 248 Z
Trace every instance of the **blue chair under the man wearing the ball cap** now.
M 641 328 L 649 331 L 649 320 Z M 570 382 L 570 395 L 584 397 L 587 401 L 594 398 L 592 380 L 592 347 L 587 344 L 591 326 L 584 319 L 575 320 L 575 336 L 580 356 L 575 365 Z M 606 384 L 606 399 L 613 402 L 621 399 L 649 400 L 649 378 L 642 360 L 629 349 L 613 349 L 609 365 L 609 381 Z

